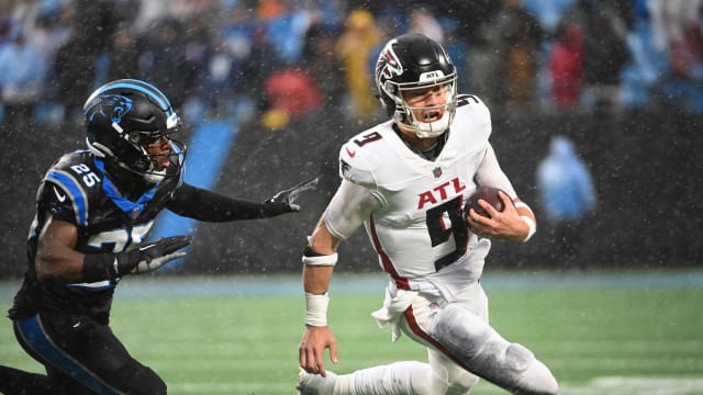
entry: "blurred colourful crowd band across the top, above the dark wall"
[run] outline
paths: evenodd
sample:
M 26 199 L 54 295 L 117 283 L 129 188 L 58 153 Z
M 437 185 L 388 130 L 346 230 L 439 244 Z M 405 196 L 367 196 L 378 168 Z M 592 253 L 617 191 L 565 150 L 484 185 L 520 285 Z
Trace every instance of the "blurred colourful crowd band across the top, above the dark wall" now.
M 357 123 L 387 38 L 443 43 L 459 90 L 511 111 L 703 113 L 701 0 L 0 0 L 5 127 L 76 119 L 96 86 L 141 78 L 186 117 L 276 128 L 310 110 Z M 77 119 L 80 119 L 78 116 Z

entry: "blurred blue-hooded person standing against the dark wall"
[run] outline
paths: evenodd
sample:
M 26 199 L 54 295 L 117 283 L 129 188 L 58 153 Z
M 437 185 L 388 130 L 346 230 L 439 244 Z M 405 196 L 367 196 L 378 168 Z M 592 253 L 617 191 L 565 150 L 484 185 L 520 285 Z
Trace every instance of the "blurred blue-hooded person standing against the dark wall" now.
M 549 155 L 537 168 L 537 189 L 547 221 L 554 227 L 560 263 L 579 261 L 583 219 L 595 210 L 596 196 L 591 173 L 576 156 L 567 137 L 554 136 Z

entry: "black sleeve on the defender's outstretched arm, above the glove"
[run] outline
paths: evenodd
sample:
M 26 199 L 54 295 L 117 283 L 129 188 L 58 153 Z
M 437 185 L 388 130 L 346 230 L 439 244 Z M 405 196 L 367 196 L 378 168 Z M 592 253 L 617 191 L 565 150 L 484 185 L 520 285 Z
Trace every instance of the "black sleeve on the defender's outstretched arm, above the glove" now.
M 261 205 L 183 183 L 174 192 L 174 200 L 166 207 L 198 221 L 228 222 L 261 218 Z

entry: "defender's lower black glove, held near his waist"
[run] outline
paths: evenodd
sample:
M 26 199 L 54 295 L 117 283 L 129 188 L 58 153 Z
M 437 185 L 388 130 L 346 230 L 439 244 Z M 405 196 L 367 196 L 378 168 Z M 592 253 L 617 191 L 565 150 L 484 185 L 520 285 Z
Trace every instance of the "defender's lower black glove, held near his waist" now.
M 124 274 L 143 274 L 160 268 L 164 263 L 183 257 L 186 251 L 178 251 L 188 246 L 191 236 L 171 236 L 146 242 L 132 251 L 115 257 L 115 276 Z

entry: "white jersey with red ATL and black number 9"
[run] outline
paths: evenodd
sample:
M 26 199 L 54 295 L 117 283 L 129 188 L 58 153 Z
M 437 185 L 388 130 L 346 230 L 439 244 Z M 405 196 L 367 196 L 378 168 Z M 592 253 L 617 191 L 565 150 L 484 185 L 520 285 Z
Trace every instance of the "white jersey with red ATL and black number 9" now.
M 464 203 L 476 190 L 475 176 L 484 158 L 495 161 L 490 134 L 488 108 L 473 95 L 460 95 L 448 139 L 435 160 L 409 148 L 393 131 L 392 121 L 356 135 L 342 147 L 341 176 L 381 202 L 364 226 L 381 267 L 397 282 L 466 261 L 477 237 L 462 219 Z M 500 174 L 483 174 L 482 179 L 499 180 L 494 187 L 513 198 L 514 190 L 498 162 L 489 168 Z M 334 226 L 334 218 L 327 221 Z M 475 274 L 480 275 L 481 269 Z

